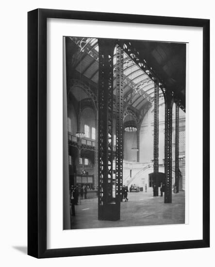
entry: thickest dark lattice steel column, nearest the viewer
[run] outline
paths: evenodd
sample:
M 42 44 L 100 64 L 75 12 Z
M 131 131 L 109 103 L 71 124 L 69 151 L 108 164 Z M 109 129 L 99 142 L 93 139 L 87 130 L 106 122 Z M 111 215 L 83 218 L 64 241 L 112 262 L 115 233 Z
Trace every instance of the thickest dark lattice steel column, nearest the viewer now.
M 114 219 L 109 213 L 113 181 L 113 58 L 114 42 L 99 43 L 99 214 L 101 220 Z M 114 215 L 113 215 L 114 216 Z

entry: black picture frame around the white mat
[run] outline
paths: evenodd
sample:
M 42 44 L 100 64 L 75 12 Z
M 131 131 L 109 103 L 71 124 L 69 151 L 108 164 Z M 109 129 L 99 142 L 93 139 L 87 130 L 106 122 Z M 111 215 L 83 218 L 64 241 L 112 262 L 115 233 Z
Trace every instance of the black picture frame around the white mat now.
M 47 18 L 193 26 L 203 29 L 203 238 L 202 240 L 47 249 Z M 68 10 L 28 13 L 28 254 L 36 258 L 210 246 L 210 20 Z

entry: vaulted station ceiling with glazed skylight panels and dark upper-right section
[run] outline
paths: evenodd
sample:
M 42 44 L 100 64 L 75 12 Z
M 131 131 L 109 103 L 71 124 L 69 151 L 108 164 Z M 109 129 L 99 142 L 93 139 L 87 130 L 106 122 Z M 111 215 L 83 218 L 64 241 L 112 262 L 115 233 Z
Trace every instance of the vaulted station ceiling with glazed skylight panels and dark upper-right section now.
M 68 37 L 70 64 L 79 73 L 80 79 L 85 77 L 95 84 L 99 83 L 99 45 L 97 38 Z M 126 40 L 128 41 L 128 40 Z M 186 81 L 186 45 L 184 43 L 130 41 L 139 52 L 139 58 L 152 67 L 156 75 L 162 79 L 166 89 L 173 90 L 182 100 L 185 107 Z M 114 68 L 116 51 L 114 53 Z M 124 100 L 130 103 L 139 113 L 149 109 L 154 97 L 154 82 L 124 52 Z M 114 90 L 116 75 L 114 72 Z M 74 93 L 75 94 L 75 93 Z M 78 94 L 78 93 L 77 93 Z M 80 97 L 80 96 L 79 96 Z M 83 99 L 84 96 L 81 97 Z M 160 90 L 160 102 L 164 101 Z

